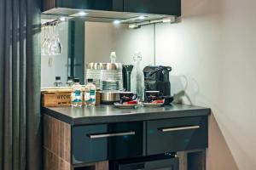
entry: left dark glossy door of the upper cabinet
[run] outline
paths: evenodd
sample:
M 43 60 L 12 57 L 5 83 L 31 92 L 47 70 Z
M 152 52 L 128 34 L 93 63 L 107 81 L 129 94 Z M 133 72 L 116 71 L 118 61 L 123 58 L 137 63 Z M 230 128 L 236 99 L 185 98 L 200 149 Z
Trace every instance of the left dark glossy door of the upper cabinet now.
M 56 0 L 56 7 L 123 11 L 123 0 Z

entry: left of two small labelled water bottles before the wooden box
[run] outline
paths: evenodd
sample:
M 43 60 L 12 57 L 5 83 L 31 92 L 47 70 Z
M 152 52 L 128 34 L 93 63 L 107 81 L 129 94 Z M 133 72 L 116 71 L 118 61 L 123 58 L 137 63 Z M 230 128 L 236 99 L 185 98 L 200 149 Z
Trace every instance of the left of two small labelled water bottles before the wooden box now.
M 81 107 L 82 106 L 82 86 L 80 85 L 79 78 L 74 79 L 73 92 L 71 94 L 71 104 L 72 107 Z

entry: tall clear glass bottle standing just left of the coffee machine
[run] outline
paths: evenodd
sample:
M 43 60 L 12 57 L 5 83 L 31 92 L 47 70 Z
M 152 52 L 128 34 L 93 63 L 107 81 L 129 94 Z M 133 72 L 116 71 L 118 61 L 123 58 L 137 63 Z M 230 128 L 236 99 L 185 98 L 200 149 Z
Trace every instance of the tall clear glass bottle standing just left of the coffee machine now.
M 142 54 L 137 52 L 134 57 L 134 67 L 131 71 L 131 91 L 137 94 L 139 101 L 144 100 L 144 73 L 141 69 Z

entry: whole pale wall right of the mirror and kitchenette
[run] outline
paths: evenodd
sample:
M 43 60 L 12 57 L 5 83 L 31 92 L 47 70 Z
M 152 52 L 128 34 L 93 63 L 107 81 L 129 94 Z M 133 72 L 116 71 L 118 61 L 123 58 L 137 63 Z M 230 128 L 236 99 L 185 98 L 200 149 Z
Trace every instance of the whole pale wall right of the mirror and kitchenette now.
M 256 1 L 183 0 L 182 22 L 157 25 L 157 65 L 172 93 L 212 108 L 207 170 L 256 168 Z M 184 99 L 189 103 L 188 99 Z

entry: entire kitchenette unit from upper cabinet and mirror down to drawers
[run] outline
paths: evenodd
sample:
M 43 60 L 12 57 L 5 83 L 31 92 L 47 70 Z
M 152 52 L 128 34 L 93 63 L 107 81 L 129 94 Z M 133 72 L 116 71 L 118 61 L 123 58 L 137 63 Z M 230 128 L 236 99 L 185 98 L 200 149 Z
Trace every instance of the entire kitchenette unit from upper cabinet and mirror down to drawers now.
M 177 23 L 180 0 L 45 0 L 42 11 L 44 170 L 206 169 L 211 110 L 180 102 L 175 68 L 155 62 L 155 26 Z

